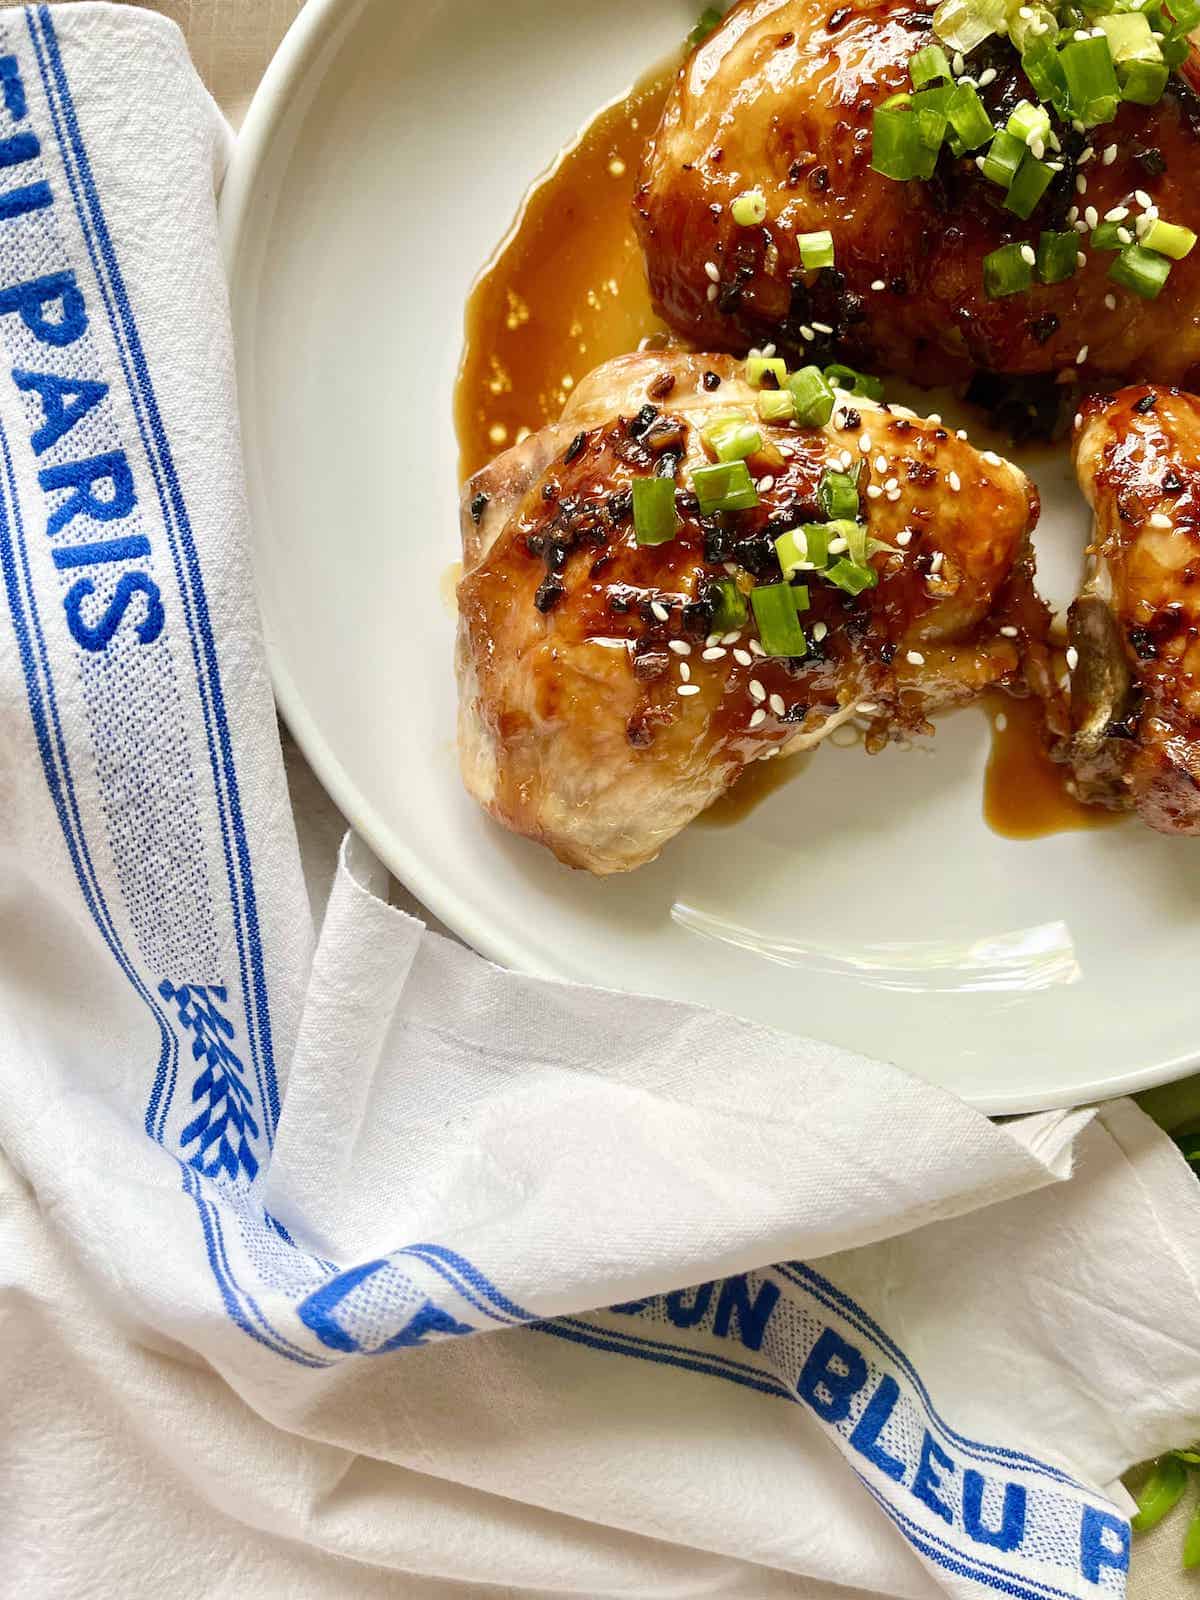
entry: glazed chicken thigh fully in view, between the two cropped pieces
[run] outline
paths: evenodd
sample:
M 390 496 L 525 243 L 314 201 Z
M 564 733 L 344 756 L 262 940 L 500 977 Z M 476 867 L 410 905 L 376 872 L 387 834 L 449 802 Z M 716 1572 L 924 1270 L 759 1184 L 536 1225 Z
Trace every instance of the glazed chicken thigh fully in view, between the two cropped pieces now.
M 466 485 L 462 774 L 494 818 L 570 866 L 651 861 L 750 762 L 848 718 L 869 720 L 882 747 L 989 685 L 1053 699 L 1026 477 L 938 422 L 840 395 L 826 427 L 758 424 L 758 506 L 701 515 L 701 429 L 755 416 L 742 373 L 722 355 L 621 357 Z M 720 629 L 714 603 L 730 574 L 739 595 L 755 578 L 782 582 L 774 539 L 821 517 L 827 467 L 859 469 L 859 517 L 886 546 L 869 557 L 878 584 L 851 595 L 798 573 L 808 653 L 766 658 L 754 608 Z M 630 483 L 651 474 L 677 483 L 678 528 L 646 546 Z

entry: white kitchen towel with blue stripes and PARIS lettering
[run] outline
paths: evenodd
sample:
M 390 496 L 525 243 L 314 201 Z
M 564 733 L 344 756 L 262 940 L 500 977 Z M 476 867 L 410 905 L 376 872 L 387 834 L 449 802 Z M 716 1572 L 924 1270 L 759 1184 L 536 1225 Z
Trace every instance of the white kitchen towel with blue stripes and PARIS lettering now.
M 354 840 L 314 941 L 226 154 L 170 24 L 0 10 L 6 1581 L 1118 1595 L 1117 1475 L 1200 1432 L 1200 1198 L 1133 1106 L 997 1128 L 498 971 Z

